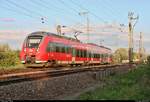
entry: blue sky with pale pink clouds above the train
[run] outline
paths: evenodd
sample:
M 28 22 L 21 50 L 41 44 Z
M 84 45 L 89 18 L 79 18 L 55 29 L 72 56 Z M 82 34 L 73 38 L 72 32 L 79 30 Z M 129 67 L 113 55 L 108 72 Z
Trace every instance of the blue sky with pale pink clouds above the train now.
M 134 50 L 138 51 L 142 32 L 144 48 L 150 53 L 149 4 L 149 0 L 0 0 L 0 44 L 21 49 L 29 33 L 56 33 L 56 26 L 64 25 L 65 36 L 74 37 L 74 31 L 78 30 L 82 32 L 78 36 L 82 42 L 101 44 L 113 51 L 128 48 L 128 12 L 134 12 L 134 17 L 139 15 L 134 28 Z

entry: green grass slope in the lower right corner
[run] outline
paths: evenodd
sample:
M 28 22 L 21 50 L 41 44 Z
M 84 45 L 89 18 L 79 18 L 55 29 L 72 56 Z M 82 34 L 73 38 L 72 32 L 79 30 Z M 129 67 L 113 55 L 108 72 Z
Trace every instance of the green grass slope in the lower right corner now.
M 106 85 L 81 94 L 78 99 L 150 99 L 150 65 L 139 65 L 136 70 L 124 75 L 110 76 Z

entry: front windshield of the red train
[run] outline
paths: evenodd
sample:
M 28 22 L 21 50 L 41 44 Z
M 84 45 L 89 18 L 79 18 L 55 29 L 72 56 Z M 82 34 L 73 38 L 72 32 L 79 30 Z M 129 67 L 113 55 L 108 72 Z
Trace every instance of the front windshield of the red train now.
M 40 42 L 42 40 L 42 36 L 29 36 L 27 46 L 29 48 L 38 48 Z

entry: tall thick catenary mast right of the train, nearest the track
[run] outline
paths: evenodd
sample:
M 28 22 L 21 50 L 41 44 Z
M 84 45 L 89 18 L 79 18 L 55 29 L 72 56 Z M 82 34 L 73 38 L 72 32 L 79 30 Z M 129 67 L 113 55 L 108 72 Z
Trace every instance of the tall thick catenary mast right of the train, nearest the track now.
M 129 19 L 129 63 L 133 63 L 133 30 L 134 27 L 139 19 L 139 16 L 133 17 L 134 13 L 129 12 L 128 13 L 128 19 Z M 135 22 L 134 22 L 135 21 Z M 133 24 L 134 22 L 134 24 Z

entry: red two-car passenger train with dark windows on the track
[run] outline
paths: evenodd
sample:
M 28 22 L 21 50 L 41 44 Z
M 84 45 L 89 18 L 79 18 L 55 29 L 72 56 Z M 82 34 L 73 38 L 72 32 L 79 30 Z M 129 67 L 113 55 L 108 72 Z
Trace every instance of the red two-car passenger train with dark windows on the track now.
M 20 52 L 26 65 L 89 65 L 112 62 L 111 49 L 49 32 L 29 34 Z

